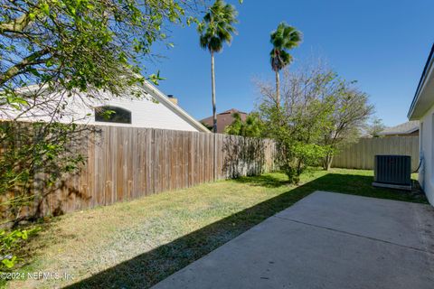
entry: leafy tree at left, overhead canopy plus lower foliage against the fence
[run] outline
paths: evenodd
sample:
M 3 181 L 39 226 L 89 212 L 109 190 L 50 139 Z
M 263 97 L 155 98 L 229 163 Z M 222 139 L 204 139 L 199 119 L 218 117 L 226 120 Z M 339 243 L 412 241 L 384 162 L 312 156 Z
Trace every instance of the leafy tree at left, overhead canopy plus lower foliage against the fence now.
M 104 98 L 101 91 L 118 96 L 145 79 L 160 79 L 143 61 L 154 54 L 155 42 L 171 45 L 169 23 L 195 21 L 200 2 L 0 0 L 0 5 L 0 119 L 47 117 L 27 126 L 0 123 L 0 194 L 14 196 L 0 205 L 17 219 L 22 206 L 34 203 L 35 196 L 27 194 L 37 172 L 50 174 L 44 182 L 55 183 L 62 172 L 80 168 L 82 157 L 71 143 L 81 126 L 59 124 L 69 99 L 89 105 Z

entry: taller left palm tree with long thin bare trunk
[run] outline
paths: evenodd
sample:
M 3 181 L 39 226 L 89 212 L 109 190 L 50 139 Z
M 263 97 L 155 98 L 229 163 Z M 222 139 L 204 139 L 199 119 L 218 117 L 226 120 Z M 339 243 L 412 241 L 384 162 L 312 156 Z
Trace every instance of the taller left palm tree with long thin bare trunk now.
M 203 22 L 198 26 L 201 34 L 200 44 L 203 49 L 211 53 L 211 89 L 212 89 L 212 131 L 217 132 L 217 115 L 215 106 L 215 75 L 214 52 L 222 51 L 224 42 L 230 44 L 232 34 L 236 33 L 233 23 L 237 23 L 237 11 L 233 5 L 222 0 L 216 0 L 208 13 L 203 16 Z

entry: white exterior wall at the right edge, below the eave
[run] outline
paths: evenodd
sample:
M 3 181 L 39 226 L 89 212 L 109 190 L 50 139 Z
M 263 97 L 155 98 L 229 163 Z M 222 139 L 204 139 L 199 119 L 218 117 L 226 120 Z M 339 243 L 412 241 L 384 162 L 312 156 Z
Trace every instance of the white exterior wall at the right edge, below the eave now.
M 434 107 L 420 119 L 420 158 L 419 182 L 429 203 L 434 205 Z

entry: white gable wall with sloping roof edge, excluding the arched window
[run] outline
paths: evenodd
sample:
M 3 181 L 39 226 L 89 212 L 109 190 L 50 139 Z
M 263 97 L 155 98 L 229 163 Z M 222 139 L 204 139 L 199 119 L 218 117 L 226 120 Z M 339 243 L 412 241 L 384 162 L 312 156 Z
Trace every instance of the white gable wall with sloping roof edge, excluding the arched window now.
M 19 90 L 22 93 L 30 94 L 37 89 L 43 89 L 43 87 L 35 85 Z M 71 100 L 68 100 L 68 109 L 65 113 L 67 116 L 59 118 L 58 121 L 64 123 L 73 121 L 75 123 L 90 125 L 151 127 L 210 133 L 208 128 L 191 117 L 187 112 L 184 111 L 183 108 L 175 105 L 167 96 L 165 96 L 163 92 L 161 92 L 159 89 L 156 89 L 156 87 L 150 82 L 145 81 L 145 83 L 142 86 L 137 87 L 137 89 L 139 94 L 143 95 L 142 98 L 134 97 L 131 92 L 127 91 L 125 92 L 125 95 L 119 97 L 115 97 L 108 92 L 99 91 L 98 94 L 100 98 L 95 100 L 89 98 L 87 99 L 86 104 L 80 101 L 80 99 L 83 98 L 83 94 L 77 92 L 75 93 L 75 97 L 71 98 Z M 56 103 L 56 101 L 59 102 L 61 94 L 61 91 L 48 94 L 43 101 L 49 98 L 53 103 Z M 94 110 L 92 107 L 100 106 L 113 106 L 127 109 L 128 111 L 132 112 L 133 121 L 131 124 L 95 122 L 93 119 Z M 37 114 L 24 116 L 17 120 L 45 121 L 45 118 L 47 118 L 46 115 L 41 115 L 38 117 L 34 117 L 34 115 Z M 14 119 L 14 112 L 6 117 L 0 115 L 0 118 Z M 48 116 L 48 118 L 50 117 Z

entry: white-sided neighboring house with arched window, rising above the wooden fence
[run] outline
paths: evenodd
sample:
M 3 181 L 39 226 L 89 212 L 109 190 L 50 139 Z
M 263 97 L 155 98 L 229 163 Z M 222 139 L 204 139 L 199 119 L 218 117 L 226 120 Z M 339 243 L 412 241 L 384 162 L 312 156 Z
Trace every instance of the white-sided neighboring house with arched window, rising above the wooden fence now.
M 24 94 L 31 94 L 37 86 L 21 89 Z M 132 89 L 133 90 L 133 89 Z M 49 121 L 50 111 L 60 105 L 61 117 L 54 121 L 61 123 L 76 123 L 98 126 L 131 126 L 147 127 L 180 131 L 210 133 L 210 130 L 191 117 L 177 105 L 176 98 L 167 97 L 154 85 L 146 81 L 144 85 L 134 88 L 133 92 L 125 92 L 113 96 L 108 92 L 97 92 L 98 97 L 90 98 L 85 93 L 51 93 L 44 99 L 49 99 L 50 107 L 38 106 L 20 117 L 13 111 L 0 119 L 18 121 Z M 40 113 L 38 111 L 41 110 Z M 107 112 L 109 110 L 109 112 Z

